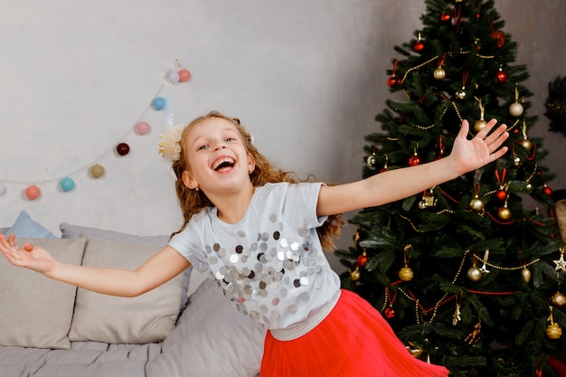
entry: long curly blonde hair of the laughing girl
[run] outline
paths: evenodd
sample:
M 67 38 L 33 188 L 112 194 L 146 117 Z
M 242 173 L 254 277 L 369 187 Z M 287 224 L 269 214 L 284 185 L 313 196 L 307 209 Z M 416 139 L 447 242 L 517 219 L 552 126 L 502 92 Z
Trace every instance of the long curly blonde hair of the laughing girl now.
M 202 190 L 193 190 L 184 185 L 183 182 L 183 172 L 189 168 L 189 163 L 187 160 L 185 152 L 185 141 L 188 134 L 188 130 L 193 127 L 193 125 L 203 121 L 207 118 L 223 118 L 231 122 L 237 130 L 240 132 L 243 140 L 243 144 L 248 151 L 248 153 L 253 156 L 256 163 L 255 170 L 250 174 L 251 184 L 254 187 L 262 186 L 269 183 L 278 182 L 288 182 L 290 184 L 297 184 L 299 182 L 312 181 L 312 176 L 309 176 L 307 180 L 300 180 L 297 174 L 294 172 L 288 172 L 278 169 L 272 165 L 268 159 L 261 155 L 258 149 L 253 146 L 251 142 L 251 136 L 245 127 L 241 126 L 240 119 L 230 118 L 218 111 L 211 111 L 203 117 L 194 119 L 187 127 L 184 127 L 183 134 L 179 145 L 181 146 L 181 154 L 179 159 L 173 162 L 172 168 L 177 180 L 175 182 L 175 192 L 177 193 L 177 199 L 179 201 L 179 206 L 181 207 L 181 212 L 183 212 L 184 224 L 176 231 L 174 234 L 179 233 L 184 230 L 187 223 L 191 220 L 194 214 L 201 212 L 204 208 L 211 207 L 214 204 L 208 199 Z M 320 237 L 321 244 L 325 250 L 334 250 L 335 243 L 333 239 L 340 237 L 340 232 L 344 226 L 345 221 L 342 218 L 342 214 L 335 214 L 328 216 L 328 220 L 316 229 L 318 236 Z

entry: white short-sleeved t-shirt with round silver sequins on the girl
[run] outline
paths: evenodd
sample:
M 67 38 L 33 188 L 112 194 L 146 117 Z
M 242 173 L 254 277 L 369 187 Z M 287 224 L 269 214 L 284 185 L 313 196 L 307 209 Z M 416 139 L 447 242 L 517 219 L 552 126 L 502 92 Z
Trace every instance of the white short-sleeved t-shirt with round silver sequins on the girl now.
M 238 309 L 270 329 L 304 321 L 340 289 L 316 234 L 321 184 L 256 187 L 244 218 L 228 224 L 211 207 L 169 241 L 195 269 L 210 270 Z

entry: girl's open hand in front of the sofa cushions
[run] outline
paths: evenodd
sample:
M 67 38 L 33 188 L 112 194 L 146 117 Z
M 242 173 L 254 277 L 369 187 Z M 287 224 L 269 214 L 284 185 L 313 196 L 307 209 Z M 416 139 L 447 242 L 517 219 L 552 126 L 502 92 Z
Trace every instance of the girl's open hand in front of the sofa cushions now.
M 14 266 L 33 269 L 42 274 L 55 268 L 56 261 L 47 250 L 27 242 L 24 243 L 23 248 L 20 248 L 15 245 L 14 240 L 14 234 L 11 234 L 7 239 L 4 234 L 0 234 L 0 251 Z

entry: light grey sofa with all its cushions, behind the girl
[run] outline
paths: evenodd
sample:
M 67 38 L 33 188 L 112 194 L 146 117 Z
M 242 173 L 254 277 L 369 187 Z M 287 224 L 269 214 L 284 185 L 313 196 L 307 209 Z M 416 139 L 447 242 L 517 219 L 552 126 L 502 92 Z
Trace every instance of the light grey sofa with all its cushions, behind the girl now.
M 66 222 L 55 236 L 27 212 L 16 243 L 85 266 L 135 269 L 169 236 L 137 236 Z M 15 268 L 0 256 L 2 377 L 254 377 L 266 329 L 192 267 L 134 298 L 109 297 Z

